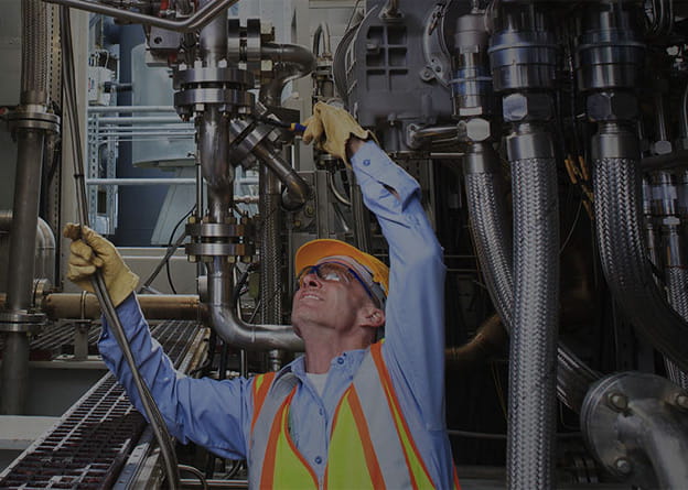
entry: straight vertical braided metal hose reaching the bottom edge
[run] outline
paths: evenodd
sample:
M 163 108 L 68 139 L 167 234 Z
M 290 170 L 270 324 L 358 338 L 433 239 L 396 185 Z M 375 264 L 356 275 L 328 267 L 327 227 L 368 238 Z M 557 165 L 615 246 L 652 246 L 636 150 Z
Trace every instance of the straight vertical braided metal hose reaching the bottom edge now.
M 553 157 L 510 163 L 515 287 L 507 486 L 549 489 L 553 473 L 559 300 L 557 166 Z

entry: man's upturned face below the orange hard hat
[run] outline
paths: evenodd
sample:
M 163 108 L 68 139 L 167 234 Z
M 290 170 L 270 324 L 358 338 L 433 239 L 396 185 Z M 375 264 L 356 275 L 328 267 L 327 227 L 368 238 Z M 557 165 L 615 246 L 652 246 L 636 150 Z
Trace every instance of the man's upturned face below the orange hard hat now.
M 303 274 L 292 302 L 291 323 L 301 337 L 321 329 L 342 333 L 352 329 L 359 308 L 370 303 L 363 285 L 346 276 L 345 266 L 341 268 L 343 274 L 337 281 L 334 280 L 336 265 L 330 271 L 326 259 L 318 264 L 323 277 L 313 270 Z

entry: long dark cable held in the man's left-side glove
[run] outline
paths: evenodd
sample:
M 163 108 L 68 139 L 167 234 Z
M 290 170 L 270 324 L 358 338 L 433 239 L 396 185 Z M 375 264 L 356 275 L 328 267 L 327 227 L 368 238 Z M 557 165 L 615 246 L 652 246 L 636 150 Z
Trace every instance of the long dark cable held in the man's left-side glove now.
M 65 88 L 66 102 L 68 107 L 68 122 L 72 130 L 72 150 L 74 154 L 74 178 L 77 193 L 77 205 L 79 221 L 82 225 L 88 224 L 88 208 L 86 200 L 86 182 L 84 179 L 84 155 L 82 153 L 80 132 L 78 128 L 78 113 L 76 102 L 76 80 L 74 69 L 74 51 L 72 41 L 72 22 L 69 18 L 69 9 L 67 7 L 61 7 L 60 9 L 60 22 L 61 22 L 61 43 L 63 51 L 63 85 Z M 151 428 L 155 435 L 155 439 L 160 446 L 160 450 L 163 459 L 163 467 L 168 486 L 172 490 L 178 490 L 179 487 L 179 469 L 176 466 L 176 455 L 172 446 L 172 437 L 168 432 L 168 427 L 164 424 L 162 415 L 155 405 L 152 395 L 142 379 L 140 372 L 137 369 L 136 360 L 131 348 L 127 341 L 123 326 L 121 325 L 115 305 L 109 297 L 103 273 L 96 270 L 93 279 L 93 286 L 100 304 L 108 324 L 112 327 L 112 334 L 122 351 L 122 355 L 129 364 L 132 379 L 137 391 L 140 394 L 141 403 L 143 405 L 146 415 L 151 424 Z

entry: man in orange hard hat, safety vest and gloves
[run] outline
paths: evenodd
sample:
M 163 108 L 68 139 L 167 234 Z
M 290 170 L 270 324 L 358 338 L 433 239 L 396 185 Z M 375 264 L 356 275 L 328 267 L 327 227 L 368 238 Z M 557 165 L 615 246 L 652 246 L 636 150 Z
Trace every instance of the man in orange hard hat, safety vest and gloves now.
M 338 240 L 302 246 L 291 323 L 305 353 L 279 372 L 224 381 L 175 372 L 132 294 L 138 277 L 86 227 L 65 229 L 74 239 L 67 276 L 89 290 L 103 270 L 171 434 L 246 458 L 250 488 L 458 488 L 444 422 L 445 268 L 419 185 L 345 110 L 319 102 L 307 123 L 307 143 L 352 165 L 390 268 Z M 99 349 L 140 410 L 106 322 Z

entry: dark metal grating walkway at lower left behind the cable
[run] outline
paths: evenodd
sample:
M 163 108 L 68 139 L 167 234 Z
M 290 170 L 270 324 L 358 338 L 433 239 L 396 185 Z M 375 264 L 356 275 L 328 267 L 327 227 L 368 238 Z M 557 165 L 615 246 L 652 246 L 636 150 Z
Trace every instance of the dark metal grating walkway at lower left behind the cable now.
M 153 330 L 175 367 L 198 335 L 194 322 Z M 56 426 L 0 475 L 0 489 L 103 489 L 115 482 L 146 421 L 111 373 L 104 375 Z

